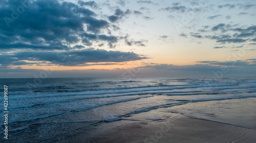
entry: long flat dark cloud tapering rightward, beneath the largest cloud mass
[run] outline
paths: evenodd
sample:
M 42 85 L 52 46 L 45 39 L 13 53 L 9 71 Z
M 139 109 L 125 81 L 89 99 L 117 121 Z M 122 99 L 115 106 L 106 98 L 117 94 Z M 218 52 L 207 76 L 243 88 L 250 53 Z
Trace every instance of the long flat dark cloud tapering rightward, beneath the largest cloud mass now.
M 58 56 L 59 55 L 59 56 Z M 77 66 L 90 62 L 127 62 L 147 59 L 134 52 L 106 51 L 101 49 L 83 49 L 74 51 L 26 51 L 0 55 L 0 64 L 9 65 L 30 65 L 32 62 L 50 62 L 61 66 Z M 24 60 L 30 62 L 24 62 Z M 38 62 L 37 62 L 38 63 Z

